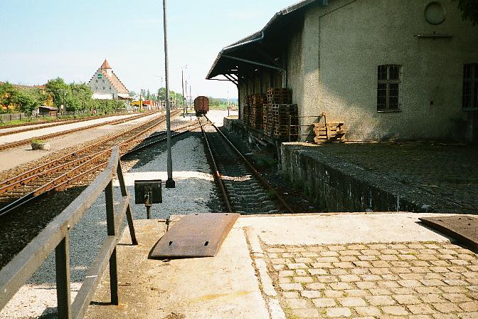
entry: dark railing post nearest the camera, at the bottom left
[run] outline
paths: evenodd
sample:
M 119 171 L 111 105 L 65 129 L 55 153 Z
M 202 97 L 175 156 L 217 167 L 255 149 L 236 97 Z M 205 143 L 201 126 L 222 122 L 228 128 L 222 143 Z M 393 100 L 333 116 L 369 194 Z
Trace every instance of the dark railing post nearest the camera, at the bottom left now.
M 68 230 L 66 231 L 65 238 L 55 248 L 55 266 L 58 318 L 70 319 L 70 246 Z

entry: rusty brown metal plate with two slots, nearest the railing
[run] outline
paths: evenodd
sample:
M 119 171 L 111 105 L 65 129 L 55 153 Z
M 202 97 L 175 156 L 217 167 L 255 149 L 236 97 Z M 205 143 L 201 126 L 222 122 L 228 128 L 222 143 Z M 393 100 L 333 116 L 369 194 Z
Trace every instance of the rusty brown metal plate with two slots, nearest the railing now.
M 240 214 L 193 214 L 176 221 L 149 258 L 213 257 Z

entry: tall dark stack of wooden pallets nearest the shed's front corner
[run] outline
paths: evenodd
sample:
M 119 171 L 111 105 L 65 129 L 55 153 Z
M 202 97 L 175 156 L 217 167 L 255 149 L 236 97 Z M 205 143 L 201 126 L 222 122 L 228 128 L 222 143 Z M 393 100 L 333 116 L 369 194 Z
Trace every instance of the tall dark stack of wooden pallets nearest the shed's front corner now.
M 265 135 L 277 137 L 280 140 L 295 141 L 298 139 L 297 105 L 292 104 L 292 92 L 289 89 L 270 88 L 267 90 L 267 105 L 264 110 Z

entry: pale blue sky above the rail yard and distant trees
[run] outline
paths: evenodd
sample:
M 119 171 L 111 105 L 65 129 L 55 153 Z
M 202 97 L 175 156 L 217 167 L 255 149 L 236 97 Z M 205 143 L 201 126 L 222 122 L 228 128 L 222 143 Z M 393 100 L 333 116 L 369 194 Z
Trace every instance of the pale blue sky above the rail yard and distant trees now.
M 235 97 L 235 85 L 204 79 L 218 52 L 294 2 L 168 0 L 171 90 L 184 68 L 193 95 Z M 164 86 L 162 0 L 0 0 L 0 38 L 0 81 L 87 82 L 107 58 L 129 90 Z

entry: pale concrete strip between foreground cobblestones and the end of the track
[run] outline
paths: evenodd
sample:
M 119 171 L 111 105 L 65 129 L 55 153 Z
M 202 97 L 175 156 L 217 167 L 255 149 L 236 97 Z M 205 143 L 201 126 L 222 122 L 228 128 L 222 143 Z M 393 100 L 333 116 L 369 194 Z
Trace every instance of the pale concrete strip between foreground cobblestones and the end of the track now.
M 267 245 L 318 245 L 393 241 L 448 241 L 418 224 L 437 214 L 304 214 L 242 216 L 240 226 L 254 230 Z

